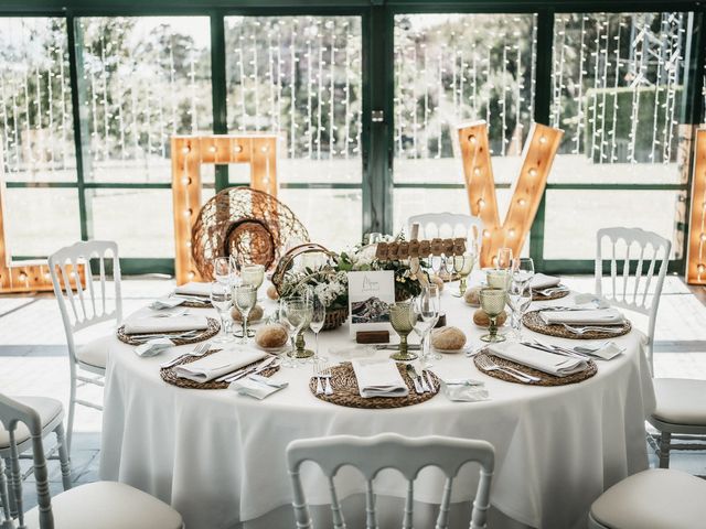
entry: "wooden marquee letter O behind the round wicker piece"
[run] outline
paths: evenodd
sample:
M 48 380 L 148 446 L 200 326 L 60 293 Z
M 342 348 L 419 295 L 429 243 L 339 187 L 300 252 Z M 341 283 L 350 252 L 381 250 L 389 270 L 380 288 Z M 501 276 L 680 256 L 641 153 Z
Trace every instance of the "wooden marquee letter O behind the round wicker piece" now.
M 277 196 L 276 134 L 173 136 L 172 198 L 176 284 L 201 279 L 191 253 L 191 229 L 201 210 L 201 165 L 249 163 L 250 187 Z

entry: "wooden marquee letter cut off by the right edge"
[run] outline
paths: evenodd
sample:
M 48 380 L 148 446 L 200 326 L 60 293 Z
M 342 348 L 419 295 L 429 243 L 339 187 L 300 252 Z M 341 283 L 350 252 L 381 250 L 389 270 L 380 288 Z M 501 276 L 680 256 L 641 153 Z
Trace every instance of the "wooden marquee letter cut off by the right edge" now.
M 706 284 L 706 128 L 696 131 L 686 282 Z

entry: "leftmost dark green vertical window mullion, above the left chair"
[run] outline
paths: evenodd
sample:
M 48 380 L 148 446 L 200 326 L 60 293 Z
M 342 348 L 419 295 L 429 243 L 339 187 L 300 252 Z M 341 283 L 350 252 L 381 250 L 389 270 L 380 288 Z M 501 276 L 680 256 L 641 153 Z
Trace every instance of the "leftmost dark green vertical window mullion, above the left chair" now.
M 81 220 L 81 238 L 88 240 L 93 236 L 93 215 L 90 204 L 86 199 L 86 175 L 90 174 L 90 151 L 84 147 L 84 141 L 90 141 L 88 136 L 87 116 L 82 119 L 82 102 L 85 100 L 85 85 L 83 83 L 83 35 L 78 21 L 73 14 L 66 15 L 66 32 L 68 42 L 68 75 L 71 80 L 71 105 L 74 126 L 74 149 L 76 152 L 76 187 L 78 193 L 78 218 Z M 76 37 L 78 34 L 78 39 Z M 84 97 L 82 97 L 84 96 Z

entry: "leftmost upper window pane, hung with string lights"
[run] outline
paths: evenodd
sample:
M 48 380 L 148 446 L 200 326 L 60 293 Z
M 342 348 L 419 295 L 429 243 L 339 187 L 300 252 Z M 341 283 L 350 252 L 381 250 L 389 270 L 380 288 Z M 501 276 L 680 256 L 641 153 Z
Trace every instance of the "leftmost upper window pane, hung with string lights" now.
M 64 19 L 0 18 L 0 163 L 11 181 L 76 180 Z

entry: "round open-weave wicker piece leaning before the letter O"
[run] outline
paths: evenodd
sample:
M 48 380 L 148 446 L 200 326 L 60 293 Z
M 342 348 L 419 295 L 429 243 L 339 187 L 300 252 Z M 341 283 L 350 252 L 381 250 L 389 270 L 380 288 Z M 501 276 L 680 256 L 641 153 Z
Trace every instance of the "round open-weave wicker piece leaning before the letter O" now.
M 213 280 L 213 259 L 243 256 L 270 269 L 291 240 L 308 240 L 307 228 L 274 196 L 250 187 L 229 187 L 204 204 L 191 231 L 199 273 Z

